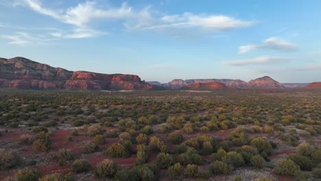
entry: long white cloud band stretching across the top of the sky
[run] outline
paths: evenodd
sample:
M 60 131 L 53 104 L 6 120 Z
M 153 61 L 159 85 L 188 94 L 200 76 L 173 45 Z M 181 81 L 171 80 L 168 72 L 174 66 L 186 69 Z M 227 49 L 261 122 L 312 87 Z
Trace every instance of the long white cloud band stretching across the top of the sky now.
M 168 29 L 198 27 L 203 29 L 228 30 L 239 27 L 249 27 L 254 24 L 252 21 L 241 21 L 230 16 L 207 15 L 207 14 L 174 14 L 157 16 L 147 6 L 141 10 L 134 10 L 127 3 L 122 3 L 119 8 L 98 7 L 95 2 L 86 1 L 67 10 L 50 10 L 44 8 L 38 0 L 22 0 L 29 8 L 40 14 L 51 16 L 63 23 L 76 26 L 86 26 L 94 19 L 121 20 L 128 29 Z

